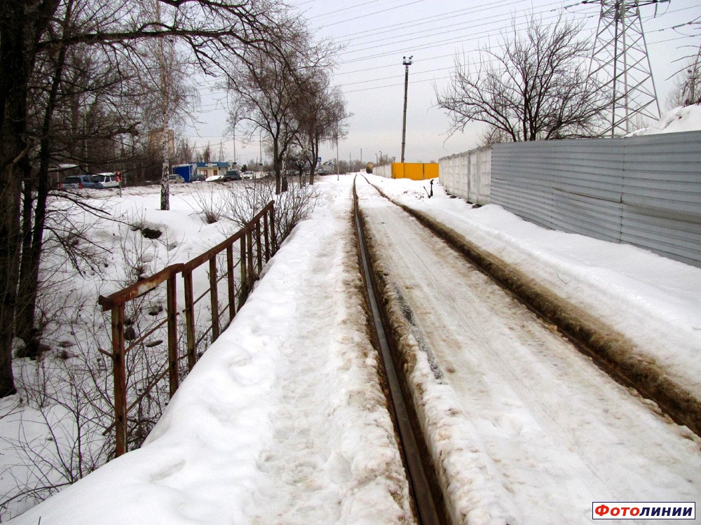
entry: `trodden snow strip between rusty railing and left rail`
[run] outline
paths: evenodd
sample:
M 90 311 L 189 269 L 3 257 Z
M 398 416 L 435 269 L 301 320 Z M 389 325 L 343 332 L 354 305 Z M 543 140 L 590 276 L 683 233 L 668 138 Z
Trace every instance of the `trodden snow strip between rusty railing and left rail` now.
M 324 186 L 144 446 L 11 523 L 416 523 L 362 306 L 352 181 Z

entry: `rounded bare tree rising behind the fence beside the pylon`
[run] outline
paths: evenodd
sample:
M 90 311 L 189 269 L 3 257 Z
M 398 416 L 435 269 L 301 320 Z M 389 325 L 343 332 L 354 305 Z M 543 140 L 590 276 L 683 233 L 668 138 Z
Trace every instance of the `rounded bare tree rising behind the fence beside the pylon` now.
M 578 32 L 562 18 L 552 25 L 531 18 L 523 32 L 514 20 L 501 45 L 483 48 L 475 66 L 456 58 L 451 85 L 436 90 L 451 132 L 476 120 L 489 125 L 492 140 L 598 136 L 611 97 L 595 80 L 587 83 L 589 46 Z

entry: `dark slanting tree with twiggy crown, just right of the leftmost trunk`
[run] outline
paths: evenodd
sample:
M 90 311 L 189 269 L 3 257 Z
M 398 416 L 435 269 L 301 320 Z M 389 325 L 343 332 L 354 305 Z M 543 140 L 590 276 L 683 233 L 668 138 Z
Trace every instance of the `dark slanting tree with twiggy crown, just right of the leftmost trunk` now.
M 76 17 L 80 7 L 77 0 L 67 3 L 64 17 L 53 30 L 72 34 L 85 29 L 90 20 Z M 38 74 L 29 85 L 27 137 L 35 148 L 28 154 L 32 170 L 22 184 L 22 251 L 15 311 L 16 335 L 25 342 L 20 356 L 36 357 L 39 351 L 35 313 L 44 232 L 50 229 L 50 165 L 71 160 L 86 171 L 88 162 L 110 165 L 117 155 L 114 137 L 132 132 L 133 123 L 122 111 L 129 98 L 123 85 L 132 76 L 124 67 L 115 71 L 107 57 L 92 51 L 84 45 L 58 45 L 39 55 Z

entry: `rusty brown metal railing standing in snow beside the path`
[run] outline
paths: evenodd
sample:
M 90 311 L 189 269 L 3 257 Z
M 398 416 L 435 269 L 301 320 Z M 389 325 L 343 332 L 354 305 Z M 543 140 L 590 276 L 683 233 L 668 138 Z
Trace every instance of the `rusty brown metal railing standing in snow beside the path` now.
M 235 253 L 234 244 L 238 241 L 239 251 Z M 217 244 L 210 250 L 198 255 L 193 260 L 165 267 L 160 272 L 139 281 L 127 288 L 123 288 L 107 297 L 100 295 L 98 303 L 102 311 L 111 311 L 111 352 L 100 350 L 112 360 L 114 375 L 114 423 L 105 430 L 105 434 L 114 429 L 116 441 L 116 456 L 121 456 L 128 448 L 128 414 L 162 379 L 168 375 L 168 391 L 170 398 L 175 395 L 179 383 L 179 362 L 187 360 L 187 371 L 192 370 L 198 353 L 198 345 L 210 335 L 211 341 L 215 341 L 219 334 L 231 323 L 236 312 L 245 302 L 252 288 L 253 282 L 263 269 L 264 260 L 267 262 L 276 251 L 275 226 L 273 202 L 262 209 L 250 223 L 236 232 L 228 239 Z M 238 261 L 235 256 L 238 255 Z M 221 257 L 220 257 L 221 256 Z M 217 264 L 218 258 L 226 257 L 224 268 Z M 209 287 L 198 297 L 195 297 L 193 272 L 207 265 Z M 236 267 L 240 269 L 238 286 L 236 283 Z M 182 276 L 184 284 L 184 353 L 180 352 L 178 341 L 178 318 L 182 319 L 182 312 L 177 307 L 177 281 Z M 226 279 L 226 301 L 223 309 L 219 308 L 219 283 Z M 165 319 L 157 321 L 153 326 L 139 337 L 132 337 L 129 346 L 125 347 L 125 304 L 152 292 L 156 287 L 165 283 L 166 308 Z M 238 290 L 238 294 L 236 291 Z M 211 322 L 207 330 L 200 336 L 196 334 L 196 305 L 209 295 L 208 307 L 211 313 Z M 222 326 L 223 315 L 228 312 L 228 321 Z M 146 386 L 139 392 L 132 393 L 132 402 L 128 405 L 128 384 L 126 357 L 130 350 L 139 344 L 144 344 L 146 339 L 167 327 L 168 362 L 163 370 L 149 378 Z

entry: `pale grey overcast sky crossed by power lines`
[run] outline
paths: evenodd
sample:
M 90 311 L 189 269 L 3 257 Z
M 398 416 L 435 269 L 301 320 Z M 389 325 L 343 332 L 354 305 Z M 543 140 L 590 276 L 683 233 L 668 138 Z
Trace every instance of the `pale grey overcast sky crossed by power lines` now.
M 589 0 L 591 1 L 591 0 Z M 644 3 L 645 0 L 641 0 Z M 561 13 L 582 22 L 583 38 L 594 38 L 599 22 L 598 3 L 580 0 L 290 0 L 308 20 L 318 38 L 333 38 L 343 46 L 338 55 L 334 83 L 341 86 L 353 113 L 348 138 L 339 144 L 339 157 L 374 161 L 376 155 L 401 156 L 404 66 L 402 57 L 413 55 L 409 66 L 407 109 L 407 162 L 429 162 L 479 146 L 483 125 L 447 136 L 449 119 L 438 109 L 435 87 L 442 90 L 454 69 L 456 54 L 472 61 L 479 48 L 496 45 L 512 20 L 525 24 L 530 13 L 551 21 Z M 671 0 L 641 6 L 651 67 L 662 111 L 672 80 L 685 64 L 680 57 L 695 55 L 701 43 L 699 0 Z M 226 132 L 222 94 L 203 92 L 198 123 L 184 134 L 198 146 L 207 141 L 219 151 L 223 141 L 227 159 L 233 158 Z M 240 138 L 240 137 L 239 137 Z M 240 162 L 257 158 L 259 144 L 236 144 Z M 336 148 L 322 147 L 322 158 Z

